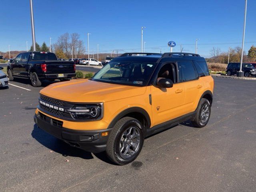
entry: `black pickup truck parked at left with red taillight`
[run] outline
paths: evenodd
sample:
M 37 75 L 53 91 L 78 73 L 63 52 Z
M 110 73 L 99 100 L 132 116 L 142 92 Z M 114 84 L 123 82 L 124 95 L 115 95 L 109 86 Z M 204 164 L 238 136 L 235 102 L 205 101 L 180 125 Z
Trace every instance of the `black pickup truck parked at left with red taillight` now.
M 9 81 L 14 78 L 29 78 L 34 87 L 41 86 L 42 80 L 65 80 L 76 76 L 73 61 L 58 61 L 51 52 L 24 52 L 7 65 Z

